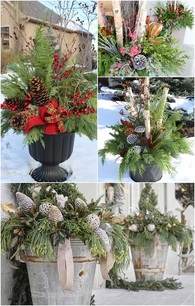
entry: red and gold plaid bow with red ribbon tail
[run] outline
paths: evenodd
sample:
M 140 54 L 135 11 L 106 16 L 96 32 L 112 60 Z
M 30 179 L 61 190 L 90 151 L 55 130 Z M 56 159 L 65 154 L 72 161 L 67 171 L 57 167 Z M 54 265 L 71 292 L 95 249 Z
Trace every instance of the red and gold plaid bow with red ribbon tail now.
M 40 116 L 32 117 L 28 120 L 25 133 L 37 125 L 47 125 L 44 133 L 48 135 L 57 134 L 58 131 L 66 132 L 61 115 L 67 115 L 67 111 L 63 107 L 58 107 L 55 100 L 51 100 L 44 106 L 39 108 Z

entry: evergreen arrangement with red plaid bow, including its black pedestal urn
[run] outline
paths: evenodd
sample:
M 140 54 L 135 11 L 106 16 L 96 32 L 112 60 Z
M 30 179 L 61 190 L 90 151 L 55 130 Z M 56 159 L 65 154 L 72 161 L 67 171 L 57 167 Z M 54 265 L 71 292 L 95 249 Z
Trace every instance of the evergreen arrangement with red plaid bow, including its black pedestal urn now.
M 42 164 L 31 173 L 38 182 L 67 179 L 67 171 L 59 164 L 70 158 L 75 133 L 86 135 L 90 140 L 97 138 L 97 74 L 86 71 L 89 50 L 83 47 L 79 51 L 82 65 L 78 65 L 73 55 L 79 48 L 75 46 L 75 38 L 68 44 L 64 38 L 67 20 L 70 21 L 74 15 L 75 3 L 62 8 L 59 2 L 58 6 L 63 14 L 58 21 L 59 53 L 55 53 L 45 33 L 46 19 L 37 26 L 34 38 L 29 38 L 29 41 L 25 29 L 20 29 L 15 22 L 17 33 L 22 37 L 15 34 L 14 40 L 20 43 L 20 39 L 24 39 L 27 47 L 22 49 L 24 56 L 21 59 L 9 64 L 12 73 L 3 76 L 1 82 L 5 96 L 1 105 L 2 136 L 11 128 L 14 133 L 25 135 L 24 146 L 28 144 L 32 158 Z M 89 22 L 95 18 L 95 8 L 96 5 L 93 12 L 88 12 L 89 7 L 86 7 L 85 13 L 87 16 L 90 14 Z M 67 18 L 64 18 L 65 13 Z M 86 38 L 85 33 L 87 48 L 92 37 L 87 35 Z M 66 46 L 64 50 L 63 44 Z

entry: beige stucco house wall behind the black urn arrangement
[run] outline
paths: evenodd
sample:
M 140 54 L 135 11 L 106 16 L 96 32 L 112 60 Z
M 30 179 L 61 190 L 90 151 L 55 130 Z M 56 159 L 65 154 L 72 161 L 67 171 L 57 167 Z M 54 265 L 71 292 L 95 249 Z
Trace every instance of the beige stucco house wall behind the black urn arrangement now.
M 4 4 L 4 6 L 6 8 L 9 9 L 10 13 L 13 15 L 13 7 L 10 5 L 9 2 L 6 1 L 2 1 L 1 2 L 1 26 L 10 26 L 10 35 L 12 35 L 13 31 L 14 31 L 14 21 L 13 19 L 10 17 L 9 13 L 7 12 L 6 9 L 4 9 L 4 7 L 2 6 L 2 3 Z M 28 12 L 27 12 L 28 15 Z M 25 24 L 25 33 L 27 35 L 27 38 L 32 36 L 32 38 L 35 35 L 35 29 L 37 26 L 36 22 L 32 22 L 32 21 L 27 21 Z M 53 29 L 53 35 L 56 35 L 59 33 L 58 29 Z M 13 36 L 13 35 L 12 35 Z M 82 46 L 83 43 L 87 43 L 87 36 L 83 36 L 80 33 L 76 33 L 76 32 L 66 32 L 64 35 L 64 41 L 63 41 L 63 45 L 62 45 L 62 50 L 67 50 L 66 44 L 69 46 L 69 49 L 71 49 L 72 46 L 72 40 L 75 38 L 75 43 L 74 46 L 72 47 L 72 60 L 76 61 L 78 63 L 80 63 L 80 55 L 79 55 L 79 49 L 78 46 Z M 87 49 L 87 53 L 88 53 L 88 59 L 89 62 L 87 64 L 87 69 L 90 70 L 91 68 L 91 58 L 92 58 L 92 51 L 91 51 L 91 42 L 88 45 L 88 49 Z M 56 48 L 58 48 L 59 46 L 57 45 Z M 75 48 L 77 49 L 75 51 Z M 16 50 L 16 44 L 14 43 L 13 39 L 10 38 L 10 49 L 12 50 Z M 86 52 L 85 52 L 86 53 Z

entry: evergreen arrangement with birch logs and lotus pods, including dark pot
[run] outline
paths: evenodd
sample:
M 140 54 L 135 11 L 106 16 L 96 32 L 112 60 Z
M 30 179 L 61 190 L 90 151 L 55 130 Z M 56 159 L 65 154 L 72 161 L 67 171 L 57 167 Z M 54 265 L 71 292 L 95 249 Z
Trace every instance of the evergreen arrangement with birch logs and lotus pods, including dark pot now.
M 180 137 L 175 122 L 180 120 L 178 113 L 167 118 L 165 103 L 169 88 L 160 88 L 155 95 L 150 94 L 149 77 L 140 78 L 139 91 L 132 92 L 131 82 L 123 83 L 124 101 L 115 101 L 123 108 L 120 110 L 121 124 L 109 128 L 112 138 L 105 141 L 105 147 L 99 150 L 102 164 L 106 154 L 122 157 L 119 168 L 119 180 L 124 172 L 136 182 L 155 182 L 162 172 L 172 174 L 174 167 L 171 158 L 180 153 L 193 154 L 192 143 Z

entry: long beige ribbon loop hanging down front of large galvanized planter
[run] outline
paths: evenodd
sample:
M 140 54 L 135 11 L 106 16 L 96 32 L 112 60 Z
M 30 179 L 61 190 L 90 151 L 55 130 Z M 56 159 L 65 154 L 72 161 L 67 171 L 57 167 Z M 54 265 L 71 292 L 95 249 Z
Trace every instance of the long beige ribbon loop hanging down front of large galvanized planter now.
M 58 247 L 58 274 L 63 290 L 72 290 L 74 278 L 74 263 L 70 239 Z

